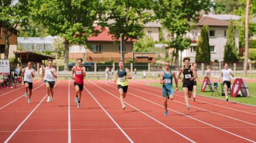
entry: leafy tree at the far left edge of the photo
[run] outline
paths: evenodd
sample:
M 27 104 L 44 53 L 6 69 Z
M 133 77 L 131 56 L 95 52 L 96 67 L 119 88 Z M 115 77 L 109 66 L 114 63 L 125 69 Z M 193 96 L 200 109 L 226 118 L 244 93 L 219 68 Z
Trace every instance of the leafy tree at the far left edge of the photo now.
M 0 1 L 0 26 L 4 28 L 3 32 L 5 33 L 5 59 L 9 56 L 9 37 L 13 33 L 18 34 L 16 27 L 22 27 L 27 23 L 27 5 L 27 0 L 19 0 L 16 3 L 11 0 Z

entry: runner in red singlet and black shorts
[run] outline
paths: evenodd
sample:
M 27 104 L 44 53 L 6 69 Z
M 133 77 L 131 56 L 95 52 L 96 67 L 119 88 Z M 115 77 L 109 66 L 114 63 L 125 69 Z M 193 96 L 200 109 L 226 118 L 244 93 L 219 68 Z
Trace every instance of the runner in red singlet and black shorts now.
M 77 66 L 72 68 L 72 79 L 75 79 L 74 86 L 76 89 L 75 102 L 77 107 L 80 108 L 80 101 L 82 96 L 82 89 L 84 89 L 84 77 L 86 75 L 85 68 L 82 66 L 82 59 L 77 58 Z

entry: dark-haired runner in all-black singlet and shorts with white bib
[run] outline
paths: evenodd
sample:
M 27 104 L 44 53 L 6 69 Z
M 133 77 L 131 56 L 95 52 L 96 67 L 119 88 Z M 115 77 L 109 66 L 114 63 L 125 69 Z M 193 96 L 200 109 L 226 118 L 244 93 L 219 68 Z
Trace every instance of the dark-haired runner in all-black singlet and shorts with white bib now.
M 193 81 L 196 79 L 196 70 L 195 67 L 189 65 L 190 58 L 185 57 L 183 58 L 184 66 L 180 68 L 179 75 L 177 79 L 179 79 L 181 73 L 183 73 L 184 80 L 183 80 L 183 91 L 185 96 L 185 103 L 187 106 L 187 110 L 189 110 L 189 103 L 188 98 L 191 98 L 192 91 L 193 91 Z

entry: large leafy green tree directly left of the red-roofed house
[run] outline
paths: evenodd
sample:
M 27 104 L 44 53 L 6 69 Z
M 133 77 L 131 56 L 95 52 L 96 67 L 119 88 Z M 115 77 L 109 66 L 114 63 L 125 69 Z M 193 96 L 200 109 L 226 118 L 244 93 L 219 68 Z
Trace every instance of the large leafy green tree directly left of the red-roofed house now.
M 97 0 L 31 0 L 32 18 L 49 28 L 52 36 L 64 38 L 64 70 L 68 70 L 69 44 L 86 44 L 97 34 L 93 23 L 101 16 L 102 3 Z

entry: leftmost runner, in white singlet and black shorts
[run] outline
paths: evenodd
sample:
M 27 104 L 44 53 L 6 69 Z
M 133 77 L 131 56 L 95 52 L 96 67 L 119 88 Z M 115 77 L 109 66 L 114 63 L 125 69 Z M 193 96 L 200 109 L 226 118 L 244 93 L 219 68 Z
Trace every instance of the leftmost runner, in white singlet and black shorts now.
M 29 90 L 30 92 L 28 93 L 27 102 L 30 103 L 31 102 L 32 89 L 33 89 L 33 79 L 32 78 L 35 77 L 35 70 L 31 67 L 31 62 L 30 61 L 27 63 L 27 67 L 23 69 L 21 77 L 23 77 L 23 75 L 24 75 L 23 82 L 24 82 L 25 90 L 26 90 L 24 96 L 27 97 L 27 93 L 28 93 L 28 90 Z

